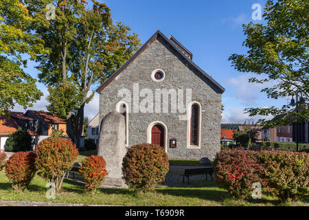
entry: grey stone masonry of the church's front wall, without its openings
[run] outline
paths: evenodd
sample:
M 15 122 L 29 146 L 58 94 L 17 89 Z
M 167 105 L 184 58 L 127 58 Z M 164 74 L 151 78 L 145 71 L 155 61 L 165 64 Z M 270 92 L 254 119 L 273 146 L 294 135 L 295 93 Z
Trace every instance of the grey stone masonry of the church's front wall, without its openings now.
M 157 83 L 152 80 L 154 69 L 163 69 L 165 79 Z M 213 159 L 220 151 L 221 94 L 207 80 L 192 69 L 177 52 L 160 37 L 132 61 L 100 94 L 100 121 L 111 111 L 122 97 L 119 89 L 129 89 L 133 94 L 133 83 L 139 83 L 139 91 L 151 89 L 192 89 L 192 101 L 202 105 L 201 148 L 187 148 L 187 121 L 179 120 L 178 113 L 129 113 L 128 145 L 146 143 L 147 128 L 151 122 L 161 121 L 168 127 L 167 153 L 171 159 Z M 139 98 L 141 101 L 143 98 Z M 132 100 L 133 103 L 133 100 Z M 162 104 L 161 104 L 162 108 Z M 155 104 L 154 104 L 155 109 Z M 155 110 L 154 110 L 155 112 Z M 176 138 L 177 147 L 170 148 L 170 139 Z

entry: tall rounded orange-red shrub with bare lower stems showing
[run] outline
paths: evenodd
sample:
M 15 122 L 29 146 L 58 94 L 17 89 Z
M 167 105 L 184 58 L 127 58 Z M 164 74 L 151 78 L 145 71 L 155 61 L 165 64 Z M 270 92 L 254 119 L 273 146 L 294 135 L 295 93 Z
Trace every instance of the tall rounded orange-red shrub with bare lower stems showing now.
M 60 190 L 65 174 L 78 157 L 76 145 L 64 137 L 48 137 L 36 146 L 36 168 L 49 182 Z

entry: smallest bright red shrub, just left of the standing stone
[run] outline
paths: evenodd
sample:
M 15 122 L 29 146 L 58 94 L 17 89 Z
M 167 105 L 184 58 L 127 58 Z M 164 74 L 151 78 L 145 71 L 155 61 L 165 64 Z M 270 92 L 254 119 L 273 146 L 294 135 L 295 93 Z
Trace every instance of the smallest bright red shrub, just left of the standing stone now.
M 82 162 L 79 173 L 87 181 L 85 185 L 87 190 L 95 192 L 107 175 L 105 160 L 99 155 L 86 157 Z

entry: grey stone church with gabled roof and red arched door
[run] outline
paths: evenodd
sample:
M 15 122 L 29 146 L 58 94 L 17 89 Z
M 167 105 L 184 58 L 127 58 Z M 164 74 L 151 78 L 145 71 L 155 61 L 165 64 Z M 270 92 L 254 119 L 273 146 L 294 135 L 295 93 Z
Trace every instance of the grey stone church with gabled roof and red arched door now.
M 111 111 L 126 121 L 126 147 L 159 144 L 170 159 L 220 151 L 225 89 L 192 61 L 192 53 L 159 30 L 98 89 L 100 122 Z

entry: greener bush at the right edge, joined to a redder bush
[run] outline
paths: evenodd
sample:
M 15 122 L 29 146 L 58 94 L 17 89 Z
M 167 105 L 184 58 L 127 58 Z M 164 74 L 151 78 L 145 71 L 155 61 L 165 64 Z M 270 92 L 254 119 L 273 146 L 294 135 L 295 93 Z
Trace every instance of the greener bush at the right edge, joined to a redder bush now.
M 309 192 L 308 153 L 263 151 L 258 156 L 264 186 L 281 201 L 296 201 Z M 263 184 L 262 184 L 263 186 Z

